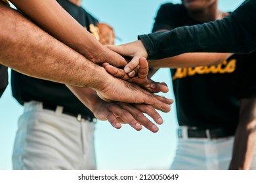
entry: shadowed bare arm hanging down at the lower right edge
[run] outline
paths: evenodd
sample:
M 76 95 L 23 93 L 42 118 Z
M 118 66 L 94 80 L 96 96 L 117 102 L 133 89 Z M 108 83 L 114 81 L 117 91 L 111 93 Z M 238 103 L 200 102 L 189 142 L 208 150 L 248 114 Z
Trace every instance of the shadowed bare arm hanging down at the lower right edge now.
M 229 169 L 250 169 L 256 141 L 256 100 L 242 99 Z

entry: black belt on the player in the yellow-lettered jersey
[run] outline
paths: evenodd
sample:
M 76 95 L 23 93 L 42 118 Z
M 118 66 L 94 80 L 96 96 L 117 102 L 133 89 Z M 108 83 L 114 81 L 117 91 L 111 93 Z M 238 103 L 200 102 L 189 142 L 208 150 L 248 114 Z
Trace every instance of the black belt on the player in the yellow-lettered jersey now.
M 181 127 L 178 129 L 178 137 L 181 139 L 186 139 L 186 138 L 219 139 L 219 138 L 234 136 L 234 133 L 235 133 L 234 131 L 231 131 L 225 128 L 199 129 L 197 127 Z

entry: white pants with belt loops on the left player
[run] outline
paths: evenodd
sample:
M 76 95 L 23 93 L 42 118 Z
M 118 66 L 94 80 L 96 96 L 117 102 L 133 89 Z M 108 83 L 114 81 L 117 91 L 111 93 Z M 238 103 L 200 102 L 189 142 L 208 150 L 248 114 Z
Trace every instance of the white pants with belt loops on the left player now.
M 18 120 L 13 169 L 96 169 L 95 125 L 30 102 Z

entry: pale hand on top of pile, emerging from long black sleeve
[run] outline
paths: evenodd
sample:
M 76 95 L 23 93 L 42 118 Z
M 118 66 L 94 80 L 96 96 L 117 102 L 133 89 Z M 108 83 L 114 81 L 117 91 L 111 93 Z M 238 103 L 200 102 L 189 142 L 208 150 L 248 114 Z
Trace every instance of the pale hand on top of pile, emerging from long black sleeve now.
M 148 58 L 148 53 L 146 52 L 146 48 L 144 47 L 142 41 L 129 42 L 126 44 L 121 44 L 119 46 L 108 45 L 110 50 L 117 52 L 121 56 L 130 57 L 131 61 L 125 65 L 123 70 L 129 76 L 135 75 L 135 70 L 139 66 L 140 58 Z

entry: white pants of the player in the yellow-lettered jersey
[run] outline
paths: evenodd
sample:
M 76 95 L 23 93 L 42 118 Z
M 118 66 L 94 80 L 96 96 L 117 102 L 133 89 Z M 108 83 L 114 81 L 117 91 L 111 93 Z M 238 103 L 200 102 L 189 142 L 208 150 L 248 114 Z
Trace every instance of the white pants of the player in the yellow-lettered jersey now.
M 226 170 L 229 167 L 234 137 L 222 139 L 179 139 L 170 169 Z M 256 168 L 256 146 L 251 169 Z

